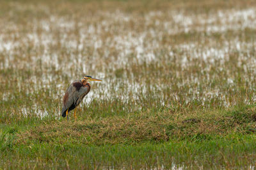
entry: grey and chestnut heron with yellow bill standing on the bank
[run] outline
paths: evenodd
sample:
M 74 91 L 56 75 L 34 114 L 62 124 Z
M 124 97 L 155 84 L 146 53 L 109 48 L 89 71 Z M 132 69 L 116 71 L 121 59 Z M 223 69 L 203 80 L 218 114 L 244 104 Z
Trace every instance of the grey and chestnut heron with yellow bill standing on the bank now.
M 102 81 L 100 79 L 95 79 L 90 75 L 85 75 L 83 79 L 76 80 L 68 86 L 66 93 L 62 101 L 62 110 L 61 116 L 65 118 L 67 116 L 68 121 L 68 112 L 74 110 L 74 118 L 76 117 L 77 106 L 82 102 L 83 98 L 89 93 L 91 85 L 88 81 Z

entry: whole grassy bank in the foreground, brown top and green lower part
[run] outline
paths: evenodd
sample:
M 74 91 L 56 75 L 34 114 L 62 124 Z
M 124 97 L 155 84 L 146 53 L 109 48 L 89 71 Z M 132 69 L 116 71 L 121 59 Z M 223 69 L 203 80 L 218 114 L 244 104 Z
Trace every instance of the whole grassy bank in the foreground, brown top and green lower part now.
M 185 109 L 185 108 L 184 108 Z M 252 168 L 255 107 L 2 125 L 1 167 Z

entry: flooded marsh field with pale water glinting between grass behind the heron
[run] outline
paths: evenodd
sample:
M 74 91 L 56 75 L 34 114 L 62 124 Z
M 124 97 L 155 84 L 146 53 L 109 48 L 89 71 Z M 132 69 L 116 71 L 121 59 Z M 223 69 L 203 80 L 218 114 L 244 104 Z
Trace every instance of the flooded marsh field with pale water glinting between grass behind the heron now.
M 82 107 L 95 98 L 119 100 L 135 111 L 148 107 L 141 105 L 145 98 L 161 107 L 170 105 L 173 95 L 203 107 L 255 102 L 253 6 L 125 12 L 82 11 L 77 4 L 70 11 L 64 4 L 56 10 L 44 3 L 8 5 L 12 10 L 0 22 L 6 102 L 15 100 L 13 92 L 24 92 L 19 95 L 24 99 L 47 91 L 49 100 L 59 103 L 70 82 L 84 75 L 104 81 L 93 84 Z M 43 109 L 44 100 L 33 102 L 29 110 L 26 102 L 9 110 L 59 115 L 59 105 L 52 112 Z

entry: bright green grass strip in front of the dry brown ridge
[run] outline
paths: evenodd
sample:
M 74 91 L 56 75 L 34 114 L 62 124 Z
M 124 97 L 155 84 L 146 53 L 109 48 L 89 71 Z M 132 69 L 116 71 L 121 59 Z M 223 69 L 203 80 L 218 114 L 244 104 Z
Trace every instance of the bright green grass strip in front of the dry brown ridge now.
M 12 136 L 9 134 L 8 136 Z M 1 143 L 1 167 L 22 168 L 248 168 L 255 164 L 255 135 L 229 134 L 170 139 L 164 143 L 77 144 L 33 142 Z M 3 139 L 1 139 L 3 140 Z

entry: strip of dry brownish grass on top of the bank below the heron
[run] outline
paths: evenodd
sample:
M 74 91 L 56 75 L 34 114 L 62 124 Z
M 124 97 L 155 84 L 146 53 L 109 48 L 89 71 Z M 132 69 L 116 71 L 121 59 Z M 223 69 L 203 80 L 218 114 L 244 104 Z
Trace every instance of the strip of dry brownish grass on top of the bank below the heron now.
M 208 137 L 232 133 L 251 133 L 256 128 L 255 108 L 221 113 L 149 112 L 124 118 L 111 117 L 100 120 L 72 122 L 52 121 L 33 127 L 18 135 L 18 143 L 118 144 L 143 141 L 168 141 L 190 137 Z M 58 142 L 57 142 L 58 141 Z

